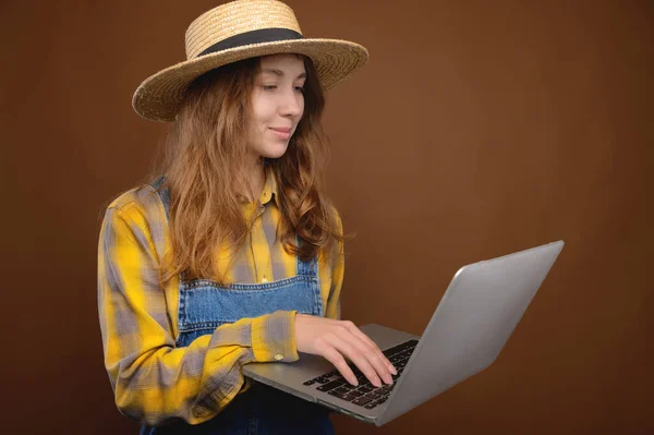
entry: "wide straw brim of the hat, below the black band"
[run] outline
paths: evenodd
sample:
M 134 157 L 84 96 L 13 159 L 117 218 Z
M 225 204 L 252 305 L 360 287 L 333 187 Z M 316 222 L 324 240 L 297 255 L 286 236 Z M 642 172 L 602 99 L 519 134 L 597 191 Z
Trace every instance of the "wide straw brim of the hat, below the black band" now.
M 340 39 L 294 39 L 235 47 L 177 63 L 146 78 L 134 93 L 132 106 L 143 118 L 174 121 L 189 84 L 215 68 L 258 56 L 298 53 L 310 57 L 325 90 L 361 69 L 368 58 L 365 47 Z

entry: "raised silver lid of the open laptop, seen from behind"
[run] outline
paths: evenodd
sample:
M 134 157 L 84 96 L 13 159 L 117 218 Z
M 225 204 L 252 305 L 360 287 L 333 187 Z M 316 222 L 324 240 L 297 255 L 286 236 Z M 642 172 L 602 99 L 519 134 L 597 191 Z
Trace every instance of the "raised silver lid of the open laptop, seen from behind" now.
M 495 361 L 564 241 L 459 269 L 399 378 L 382 425 Z

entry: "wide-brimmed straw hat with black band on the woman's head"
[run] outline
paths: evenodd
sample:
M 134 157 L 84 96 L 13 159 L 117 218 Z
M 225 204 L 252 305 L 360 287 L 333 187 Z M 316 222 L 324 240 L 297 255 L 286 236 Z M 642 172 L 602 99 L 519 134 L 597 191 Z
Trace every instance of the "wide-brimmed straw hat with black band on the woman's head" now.
M 205 72 L 242 59 L 300 53 L 310 57 L 325 90 L 347 80 L 367 60 L 367 50 L 340 39 L 305 38 L 287 4 L 237 0 L 195 19 L 185 34 L 186 60 L 146 78 L 132 106 L 144 118 L 174 121 L 189 84 Z

